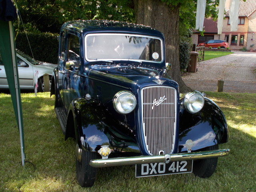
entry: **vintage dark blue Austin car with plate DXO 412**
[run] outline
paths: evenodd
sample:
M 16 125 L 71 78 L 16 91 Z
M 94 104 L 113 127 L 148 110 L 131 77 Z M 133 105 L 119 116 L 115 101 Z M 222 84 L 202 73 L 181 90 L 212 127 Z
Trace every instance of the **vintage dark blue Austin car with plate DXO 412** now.
M 76 140 L 76 176 L 92 186 L 99 167 L 136 164 L 136 177 L 213 174 L 229 153 L 220 108 L 201 92 L 180 98 L 168 78 L 164 36 L 148 26 L 78 20 L 60 30 L 52 78 L 65 139 Z M 101 156 L 102 157 L 101 157 Z

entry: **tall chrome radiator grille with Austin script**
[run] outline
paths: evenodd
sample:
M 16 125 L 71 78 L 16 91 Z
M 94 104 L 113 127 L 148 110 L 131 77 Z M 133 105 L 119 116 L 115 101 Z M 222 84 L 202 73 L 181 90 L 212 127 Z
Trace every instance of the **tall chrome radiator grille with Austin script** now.
M 170 154 L 176 135 L 177 92 L 166 86 L 141 91 L 143 134 L 151 155 Z

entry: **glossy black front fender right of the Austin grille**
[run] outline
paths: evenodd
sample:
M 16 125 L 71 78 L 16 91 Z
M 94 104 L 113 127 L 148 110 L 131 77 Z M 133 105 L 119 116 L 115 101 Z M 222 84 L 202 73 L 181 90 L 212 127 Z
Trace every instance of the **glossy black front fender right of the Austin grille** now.
M 205 98 L 202 110 L 196 114 L 184 111 L 180 115 L 178 151 L 186 152 L 186 141 L 192 140 L 192 151 L 228 142 L 229 132 L 226 118 L 220 108 Z

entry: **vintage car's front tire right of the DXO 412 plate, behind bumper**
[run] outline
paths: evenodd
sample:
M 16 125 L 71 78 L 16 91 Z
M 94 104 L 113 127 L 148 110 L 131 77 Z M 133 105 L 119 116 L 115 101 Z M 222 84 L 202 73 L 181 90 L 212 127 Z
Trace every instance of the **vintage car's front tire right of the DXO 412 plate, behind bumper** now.
M 204 151 L 217 150 L 218 145 L 204 148 Z M 218 158 L 208 158 L 194 160 L 193 162 L 193 173 L 201 178 L 208 178 L 212 176 L 216 170 Z

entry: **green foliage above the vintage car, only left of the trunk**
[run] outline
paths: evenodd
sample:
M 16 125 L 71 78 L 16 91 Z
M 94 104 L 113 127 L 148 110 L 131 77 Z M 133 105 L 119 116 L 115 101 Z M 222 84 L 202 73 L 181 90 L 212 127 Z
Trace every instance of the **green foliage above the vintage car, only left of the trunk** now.
M 17 0 L 21 19 L 28 28 L 41 32 L 59 32 L 69 20 L 119 20 L 135 22 L 130 0 Z M 18 26 L 18 24 L 16 24 Z M 31 27 L 33 26 L 33 27 Z M 23 27 L 19 28 L 20 31 Z

